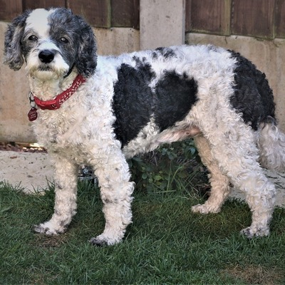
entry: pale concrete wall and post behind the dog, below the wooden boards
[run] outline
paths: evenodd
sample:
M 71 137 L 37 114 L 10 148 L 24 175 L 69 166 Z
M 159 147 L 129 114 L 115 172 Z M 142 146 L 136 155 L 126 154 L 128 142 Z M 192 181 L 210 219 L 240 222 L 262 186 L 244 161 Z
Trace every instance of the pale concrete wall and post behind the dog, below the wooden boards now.
M 213 36 L 187 33 L 185 35 L 185 0 L 140 0 L 140 31 L 133 28 L 94 28 L 98 54 L 120 54 L 182 44 L 212 43 L 242 53 L 266 73 L 274 90 L 276 115 L 285 131 L 285 40 L 260 41 L 244 36 Z M 0 22 L 0 49 L 4 50 L 6 23 Z M 28 84 L 24 67 L 11 71 L 2 64 L 0 53 L 0 141 L 35 142 L 26 114 Z

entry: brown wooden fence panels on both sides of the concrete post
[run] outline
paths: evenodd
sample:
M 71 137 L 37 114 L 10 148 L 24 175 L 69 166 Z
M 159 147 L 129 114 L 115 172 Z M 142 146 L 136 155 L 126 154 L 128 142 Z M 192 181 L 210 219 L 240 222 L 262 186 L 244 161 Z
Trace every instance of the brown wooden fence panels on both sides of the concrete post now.
M 140 0 L 0 0 L 0 21 L 50 6 L 70 8 L 93 26 L 140 26 Z M 185 6 L 187 32 L 285 38 L 285 0 L 185 0 Z

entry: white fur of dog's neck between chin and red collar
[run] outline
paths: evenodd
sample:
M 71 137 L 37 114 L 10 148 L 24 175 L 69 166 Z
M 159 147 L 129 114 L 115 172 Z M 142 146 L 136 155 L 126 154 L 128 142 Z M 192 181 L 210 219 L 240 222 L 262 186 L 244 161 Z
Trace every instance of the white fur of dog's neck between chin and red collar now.
M 76 71 L 72 71 L 66 78 L 51 78 L 48 80 L 28 75 L 28 81 L 33 95 L 41 100 L 51 100 L 68 89 L 76 76 L 78 76 Z

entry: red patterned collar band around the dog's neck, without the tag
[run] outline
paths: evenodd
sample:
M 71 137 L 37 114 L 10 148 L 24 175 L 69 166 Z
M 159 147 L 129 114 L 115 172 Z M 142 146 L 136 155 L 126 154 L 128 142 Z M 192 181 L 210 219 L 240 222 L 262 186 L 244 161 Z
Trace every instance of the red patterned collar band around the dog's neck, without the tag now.
M 78 74 L 76 79 L 73 81 L 72 86 L 68 88 L 67 90 L 63 91 L 63 93 L 59 94 L 54 98 L 53 100 L 47 100 L 42 101 L 38 99 L 38 97 L 33 96 L 33 100 L 35 101 L 38 108 L 41 110 L 56 110 L 61 108 L 61 105 L 68 100 L 68 98 L 73 95 L 74 92 L 78 89 L 79 86 L 81 86 L 82 83 L 86 82 L 86 79 L 81 76 L 81 74 Z

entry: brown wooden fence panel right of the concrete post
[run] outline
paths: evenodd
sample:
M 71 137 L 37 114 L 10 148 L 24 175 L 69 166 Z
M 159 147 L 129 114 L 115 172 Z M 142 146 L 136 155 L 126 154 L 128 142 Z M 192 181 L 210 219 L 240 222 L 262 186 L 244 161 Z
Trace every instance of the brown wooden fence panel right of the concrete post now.
M 186 31 L 285 37 L 285 0 L 186 0 Z

